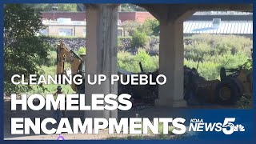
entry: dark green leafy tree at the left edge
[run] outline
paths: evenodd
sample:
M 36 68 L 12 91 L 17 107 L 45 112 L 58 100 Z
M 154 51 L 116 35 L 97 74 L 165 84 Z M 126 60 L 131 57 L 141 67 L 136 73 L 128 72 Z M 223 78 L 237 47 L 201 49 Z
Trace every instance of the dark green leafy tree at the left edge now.
M 40 66 L 46 62 L 49 51 L 43 38 L 36 36 L 43 29 L 40 14 L 20 4 L 4 6 L 4 90 L 7 94 L 22 93 L 30 85 L 14 85 L 11 77 L 24 74 L 42 74 Z M 41 86 L 42 87 L 42 86 Z

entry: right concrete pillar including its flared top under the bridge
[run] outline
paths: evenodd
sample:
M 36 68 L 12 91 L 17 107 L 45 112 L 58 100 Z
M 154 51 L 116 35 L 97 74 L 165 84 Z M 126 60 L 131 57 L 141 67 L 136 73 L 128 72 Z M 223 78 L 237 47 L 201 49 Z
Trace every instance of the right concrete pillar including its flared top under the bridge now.
M 159 74 L 167 82 L 159 86 L 156 106 L 185 107 L 183 100 L 183 22 L 196 10 L 190 5 L 140 5 L 160 22 Z

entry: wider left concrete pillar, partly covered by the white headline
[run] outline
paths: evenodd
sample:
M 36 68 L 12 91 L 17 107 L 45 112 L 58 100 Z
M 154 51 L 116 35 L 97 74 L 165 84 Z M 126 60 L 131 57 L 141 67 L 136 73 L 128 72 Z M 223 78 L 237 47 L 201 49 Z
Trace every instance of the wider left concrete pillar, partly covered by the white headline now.
M 107 77 L 106 82 L 93 86 L 86 79 L 86 105 L 91 106 L 92 94 L 118 93 L 117 83 L 110 84 L 110 74 L 117 74 L 117 37 L 118 5 L 86 6 L 86 74 L 105 74 Z M 86 111 L 85 117 L 118 118 L 118 111 Z

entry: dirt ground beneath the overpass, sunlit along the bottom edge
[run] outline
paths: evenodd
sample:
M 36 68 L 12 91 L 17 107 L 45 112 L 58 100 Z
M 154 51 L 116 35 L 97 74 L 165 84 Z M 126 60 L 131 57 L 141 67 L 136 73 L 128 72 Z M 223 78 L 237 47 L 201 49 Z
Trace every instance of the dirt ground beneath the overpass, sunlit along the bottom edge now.
M 212 108 L 213 106 L 194 106 L 194 108 Z M 214 106 L 216 107 L 216 106 Z M 219 108 L 223 108 L 222 106 L 217 106 Z M 190 107 L 191 108 L 191 107 Z M 184 108 L 185 109 L 185 108 Z M 182 117 L 184 115 L 182 111 L 184 109 L 170 109 L 170 108 L 157 108 L 154 106 L 134 106 L 131 110 L 128 111 L 118 111 L 118 118 L 175 118 Z M 185 109 L 186 110 L 186 109 Z M 83 118 L 84 111 L 67 111 L 66 117 L 69 118 L 70 123 L 72 122 L 72 118 Z M 15 139 L 23 139 L 23 140 L 55 140 L 58 138 L 58 134 L 52 135 L 12 135 L 10 134 L 10 118 L 49 118 L 52 117 L 52 111 L 46 110 L 21 110 L 21 106 L 17 107 L 17 110 L 10 110 L 10 100 L 4 102 L 4 139 L 5 140 L 15 140 Z M 156 135 L 153 134 L 108 134 L 108 130 L 100 130 L 99 134 L 62 134 L 65 139 L 155 139 Z M 172 138 L 170 135 L 168 138 Z

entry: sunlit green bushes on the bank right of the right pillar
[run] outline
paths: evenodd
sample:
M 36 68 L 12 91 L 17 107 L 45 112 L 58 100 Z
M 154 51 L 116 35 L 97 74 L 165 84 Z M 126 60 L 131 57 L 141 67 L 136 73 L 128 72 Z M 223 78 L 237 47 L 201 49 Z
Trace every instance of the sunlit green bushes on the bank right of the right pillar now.
M 196 67 L 198 72 L 208 80 L 219 78 L 220 67 L 237 68 L 242 66 L 251 55 L 250 38 L 235 35 L 198 34 L 185 38 L 185 65 Z

